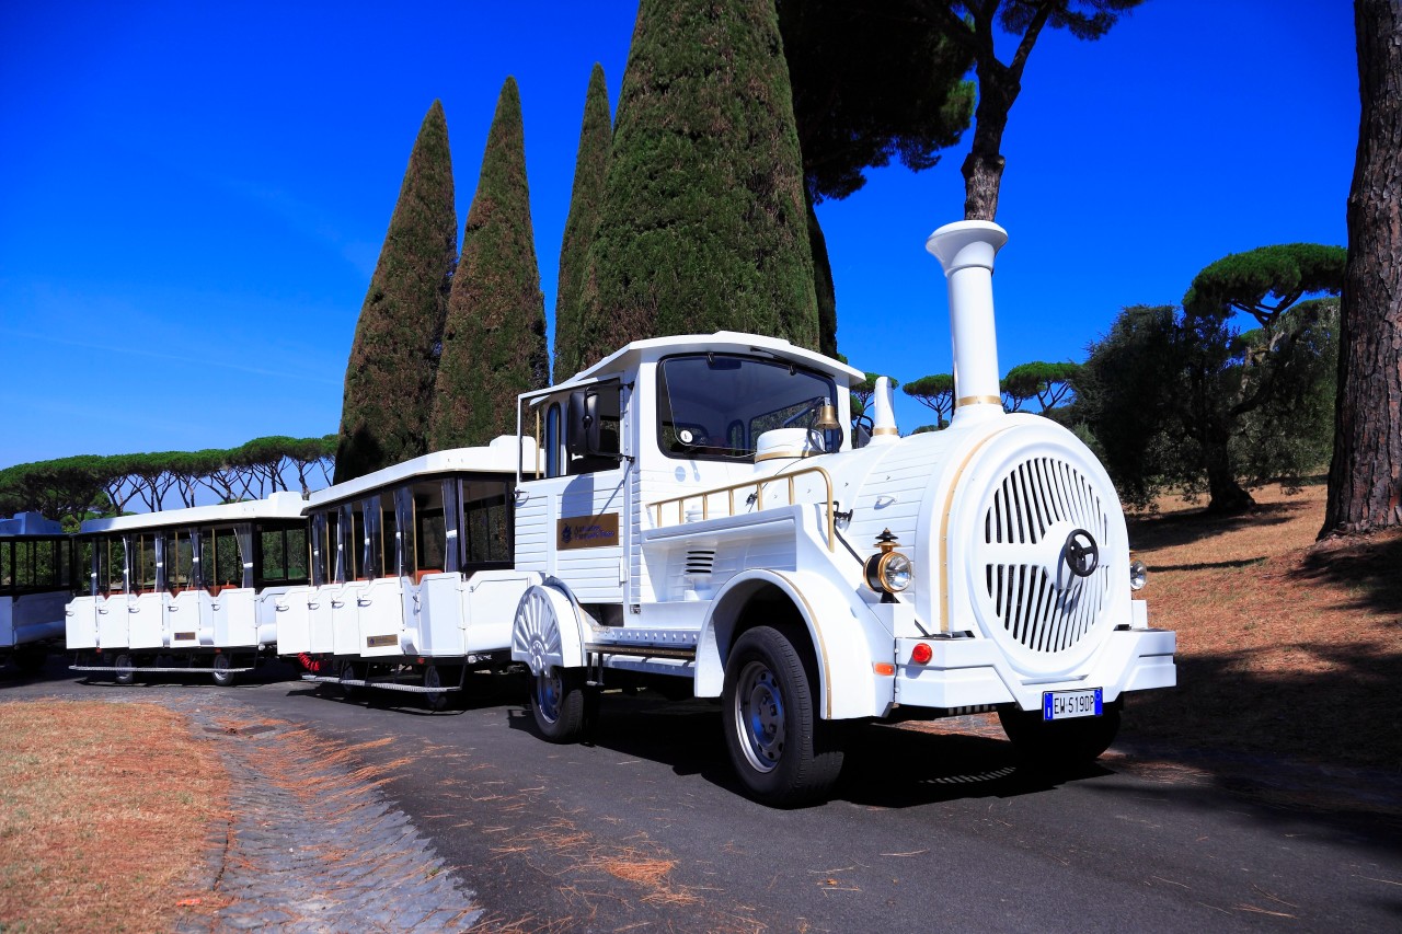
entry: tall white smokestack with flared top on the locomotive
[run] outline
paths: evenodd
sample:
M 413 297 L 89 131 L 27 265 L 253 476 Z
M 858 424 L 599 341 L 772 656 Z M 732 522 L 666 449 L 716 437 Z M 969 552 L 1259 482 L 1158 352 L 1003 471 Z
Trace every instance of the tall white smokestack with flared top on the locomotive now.
M 993 328 L 993 258 L 1008 231 L 988 220 L 945 224 L 925 240 L 949 280 L 955 356 L 953 421 L 1002 412 L 998 338 Z

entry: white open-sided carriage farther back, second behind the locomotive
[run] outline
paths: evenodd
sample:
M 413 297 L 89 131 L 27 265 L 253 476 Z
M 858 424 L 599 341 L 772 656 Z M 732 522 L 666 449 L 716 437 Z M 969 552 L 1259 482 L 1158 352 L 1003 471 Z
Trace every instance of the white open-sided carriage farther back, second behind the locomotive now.
M 205 672 L 233 684 L 276 654 L 278 617 L 306 589 L 299 494 L 88 519 L 77 539 L 87 586 L 66 607 L 73 670 L 129 684 Z

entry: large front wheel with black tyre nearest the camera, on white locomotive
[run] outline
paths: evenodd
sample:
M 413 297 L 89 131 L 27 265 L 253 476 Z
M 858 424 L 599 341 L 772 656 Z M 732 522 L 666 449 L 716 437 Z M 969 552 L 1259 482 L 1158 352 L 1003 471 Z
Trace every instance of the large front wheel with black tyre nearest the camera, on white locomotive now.
M 750 795 L 771 805 L 823 798 L 843 769 L 836 728 L 819 719 L 794 644 L 770 627 L 742 635 L 725 668 L 725 745 Z

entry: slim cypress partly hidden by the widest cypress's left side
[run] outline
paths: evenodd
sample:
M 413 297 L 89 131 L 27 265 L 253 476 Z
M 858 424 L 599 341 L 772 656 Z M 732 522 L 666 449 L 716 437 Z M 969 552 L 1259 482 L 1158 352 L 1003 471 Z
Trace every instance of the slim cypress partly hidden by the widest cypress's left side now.
M 582 353 L 579 334 L 580 303 L 589 244 L 599 230 L 608 153 L 613 150 L 613 118 L 608 114 L 608 84 L 597 62 L 589 76 L 585 95 L 585 122 L 579 129 L 579 154 L 575 157 L 575 187 L 569 198 L 569 219 L 559 248 L 559 286 L 555 292 L 555 374 L 569 377 L 594 362 Z

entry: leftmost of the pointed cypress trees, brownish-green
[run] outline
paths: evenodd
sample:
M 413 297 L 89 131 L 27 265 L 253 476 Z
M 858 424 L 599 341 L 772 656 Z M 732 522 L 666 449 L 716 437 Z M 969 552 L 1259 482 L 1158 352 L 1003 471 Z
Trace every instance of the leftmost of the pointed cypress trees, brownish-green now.
M 416 457 L 433 401 L 437 338 L 457 259 L 453 160 L 433 101 L 409 153 L 400 199 L 346 363 L 335 482 Z

